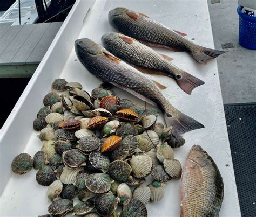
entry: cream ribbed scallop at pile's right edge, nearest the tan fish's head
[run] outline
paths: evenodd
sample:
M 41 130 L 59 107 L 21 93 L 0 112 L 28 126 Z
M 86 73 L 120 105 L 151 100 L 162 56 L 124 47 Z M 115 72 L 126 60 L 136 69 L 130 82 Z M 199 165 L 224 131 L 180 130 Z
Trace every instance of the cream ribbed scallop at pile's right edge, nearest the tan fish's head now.
M 173 179 L 179 179 L 181 177 L 181 164 L 176 159 L 164 159 L 164 169 Z

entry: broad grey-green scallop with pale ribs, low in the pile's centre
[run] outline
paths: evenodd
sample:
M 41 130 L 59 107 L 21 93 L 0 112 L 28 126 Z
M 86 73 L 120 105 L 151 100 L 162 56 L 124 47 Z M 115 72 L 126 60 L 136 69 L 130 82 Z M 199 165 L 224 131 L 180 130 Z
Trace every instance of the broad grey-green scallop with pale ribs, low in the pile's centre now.
M 113 180 L 106 173 L 93 173 L 86 177 L 85 186 L 97 194 L 105 193 L 110 190 Z

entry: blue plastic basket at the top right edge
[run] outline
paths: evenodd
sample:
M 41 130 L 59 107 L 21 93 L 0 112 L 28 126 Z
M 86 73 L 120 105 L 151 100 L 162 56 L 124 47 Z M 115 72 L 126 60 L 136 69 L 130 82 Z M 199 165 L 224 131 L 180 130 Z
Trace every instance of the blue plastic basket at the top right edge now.
M 256 50 L 256 17 L 252 13 L 242 13 L 242 6 L 238 6 L 239 14 L 239 44 L 245 48 Z

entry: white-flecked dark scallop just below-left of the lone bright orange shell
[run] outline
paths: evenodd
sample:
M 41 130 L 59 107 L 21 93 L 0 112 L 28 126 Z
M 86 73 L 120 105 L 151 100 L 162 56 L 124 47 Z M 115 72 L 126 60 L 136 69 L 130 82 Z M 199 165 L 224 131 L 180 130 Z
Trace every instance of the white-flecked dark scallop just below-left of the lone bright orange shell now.
M 94 166 L 97 170 L 107 172 L 107 167 L 109 167 L 110 164 L 110 160 L 107 156 L 100 152 L 94 151 L 90 153 L 89 160 L 92 166 Z

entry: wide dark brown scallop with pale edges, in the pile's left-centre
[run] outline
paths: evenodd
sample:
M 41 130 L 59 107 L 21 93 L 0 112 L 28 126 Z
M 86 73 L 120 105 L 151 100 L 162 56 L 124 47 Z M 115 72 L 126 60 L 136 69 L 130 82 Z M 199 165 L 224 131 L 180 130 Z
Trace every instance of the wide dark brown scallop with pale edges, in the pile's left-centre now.
M 70 149 L 68 151 L 64 151 L 62 157 L 64 165 L 70 169 L 86 165 L 87 157 L 83 155 L 78 149 Z

